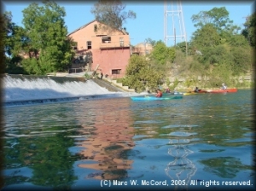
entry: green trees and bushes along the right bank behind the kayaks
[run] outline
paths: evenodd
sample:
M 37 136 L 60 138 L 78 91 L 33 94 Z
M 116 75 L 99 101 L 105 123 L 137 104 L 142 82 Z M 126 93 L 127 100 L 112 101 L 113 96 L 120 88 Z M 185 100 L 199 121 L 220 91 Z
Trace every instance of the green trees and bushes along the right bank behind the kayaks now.
M 227 83 L 229 87 L 253 87 L 253 81 L 241 83 L 238 77 L 253 75 L 255 13 L 247 19 L 243 29 L 234 25 L 228 16 L 226 8 L 212 8 L 193 15 L 192 22 L 197 30 L 187 42 L 187 53 L 185 42 L 177 43 L 172 48 L 167 48 L 161 41 L 154 43 L 147 59 L 131 57 L 126 77 L 119 79 L 119 82 L 136 89 L 136 92 L 156 91 L 163 84 L 171 89 L 181 86 L 179 80 L 170 83 L 170 77 L 186 78 L 182 82 L 183 88 L 219 88 L 222 83 Z M 131 68 L 136 68 L 133 65 L 139 65 L 142 60 L 146 61 L 131 75 Z M 149 73 L 145 77 L 149 68 L 154 75 Z M 202 79 L 198 80 L 198 77 Z

